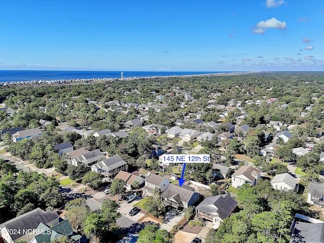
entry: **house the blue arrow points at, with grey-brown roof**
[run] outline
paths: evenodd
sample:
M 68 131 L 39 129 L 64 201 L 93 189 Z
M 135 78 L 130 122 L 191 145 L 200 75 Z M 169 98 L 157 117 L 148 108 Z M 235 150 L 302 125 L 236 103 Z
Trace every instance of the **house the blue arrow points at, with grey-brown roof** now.
M 161 194 L 162 201 L 166 206 L 172 208 L 187 209 L 188 206 L 192 206 L 197 203 L 199 199 L 199 193 L 194 191 L 194 188 L 179 184 L 171 184 L 169 187 Z

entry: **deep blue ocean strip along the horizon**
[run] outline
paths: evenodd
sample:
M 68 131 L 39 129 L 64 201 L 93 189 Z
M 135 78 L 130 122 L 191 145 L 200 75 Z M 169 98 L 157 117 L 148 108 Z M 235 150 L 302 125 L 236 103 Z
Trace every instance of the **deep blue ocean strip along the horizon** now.
M 77 78 L 120 78 L 120 73 L 124 72 L 124 77 L 150 77 L 150 76 L 173 76 L 173 75 L 193 75 L 209 73 L 228 72 L 171 72 L 171 71 L 49 71 L 49 70 L 0 70 L 0 82 L 20 82 L 32 80 L 61 80 Z

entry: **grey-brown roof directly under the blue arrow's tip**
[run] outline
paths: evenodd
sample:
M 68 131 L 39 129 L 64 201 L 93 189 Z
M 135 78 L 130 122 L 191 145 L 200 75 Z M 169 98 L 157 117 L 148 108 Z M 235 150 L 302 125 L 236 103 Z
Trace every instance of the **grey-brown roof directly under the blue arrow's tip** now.
M 189 188 L 192 187 L 185 185 L 182 185 L 180 187 L 179 184 L 170 184 L 169 187 L 161 194 L 161 196 L 168 199 L 174 199 L 177 203 L 179 203 L 179 201 L 184 201 L 185 203 L 188 203 L 193 194 L 198 193 L 193 191 L 193 188 L 192 190 Z

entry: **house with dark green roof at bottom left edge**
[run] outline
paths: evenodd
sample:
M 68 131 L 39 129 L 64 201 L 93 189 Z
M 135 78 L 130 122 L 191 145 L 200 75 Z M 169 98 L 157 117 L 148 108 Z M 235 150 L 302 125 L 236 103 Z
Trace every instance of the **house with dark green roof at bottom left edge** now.
M 70 222 L 62 218 L 48 224 L 39 223 L 36 229 L 37 235 L 30 240 L 30 243 L 50 243 L 61 236 L 67 236 L 72 243 L 79 243 L 82 238 L 81 235 L 74 233 Z

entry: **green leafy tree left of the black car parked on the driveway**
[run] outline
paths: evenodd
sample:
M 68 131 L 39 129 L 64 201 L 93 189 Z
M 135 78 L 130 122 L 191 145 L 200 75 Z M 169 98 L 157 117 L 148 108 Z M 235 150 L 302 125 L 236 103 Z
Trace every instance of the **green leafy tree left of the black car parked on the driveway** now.
M 100 211 L 101 217 L 107 223 L 107 229 L 109 231 L 110 225 L 116 223 L 116 219 L 121 217 L 121 214 L 117 212 L 120 206 L 113 200 L 105 198 L 102 202 L 102 207 Z

